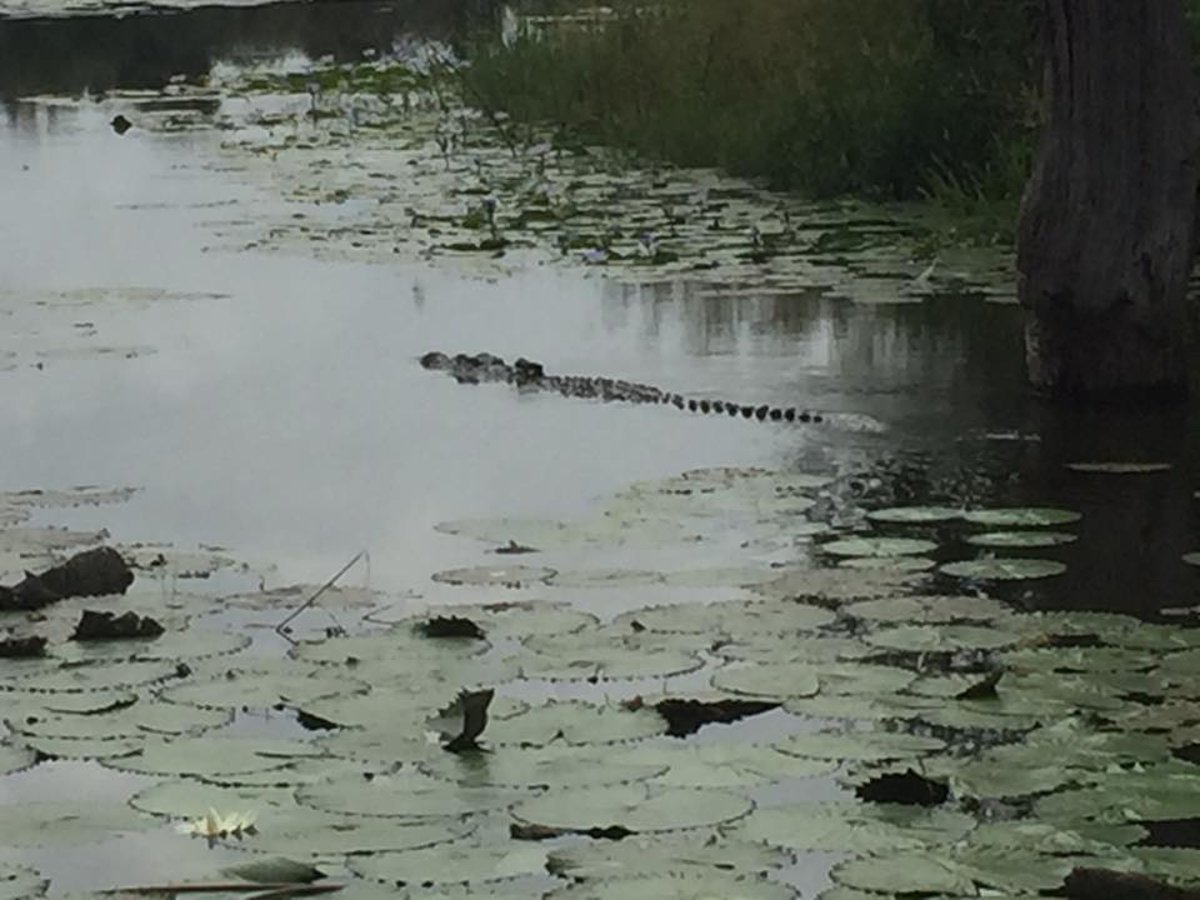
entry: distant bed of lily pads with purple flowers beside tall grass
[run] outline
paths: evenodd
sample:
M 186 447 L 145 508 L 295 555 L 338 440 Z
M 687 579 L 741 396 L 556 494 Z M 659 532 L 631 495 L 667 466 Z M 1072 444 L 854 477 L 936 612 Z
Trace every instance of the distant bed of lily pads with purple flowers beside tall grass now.
M 282 186 L 281 206 L 214 223 L 229 248 L 419 258 L 484 274 L 565 262 L 630 281 L 820 290 L 859 304 L 962 290 L 1012 298 L 997 251 L 947 248 L 931 265 L 916 209 L 810 204 L 583 146 L 550 126 L 518 128 L 473 107 L 460 64 L 427 49 L 420 61 L 218 67 L 163 97 L 106 102 L 139 128 L 220 128 L 215 166 Z

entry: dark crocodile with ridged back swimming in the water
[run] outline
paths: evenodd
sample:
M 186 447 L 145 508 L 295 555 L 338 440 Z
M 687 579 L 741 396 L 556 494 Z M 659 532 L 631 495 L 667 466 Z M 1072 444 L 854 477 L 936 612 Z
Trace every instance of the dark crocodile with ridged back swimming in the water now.
M 445 372 L 460 384 L 504 383 L 523 391 L 547 391 L 564 397 L 600 400 L 606 403 L 659 403 L 691 413 L 728 415 L 762 422 L 827 422 L 862 432 L 882 432 L 886 428 L 877 419 L 858 413 L 823 413 L 767 403 L 748 406 L 727 400 L 685 397 L 652 384 L 620 378 L 551 374 L 541 362 L 524 356 L 510 364 L 491 353 L 474 355 L 460 353 L 451 356 L 440 350 L 431 350 L 421 356 L 421 366 L 430 371 Z

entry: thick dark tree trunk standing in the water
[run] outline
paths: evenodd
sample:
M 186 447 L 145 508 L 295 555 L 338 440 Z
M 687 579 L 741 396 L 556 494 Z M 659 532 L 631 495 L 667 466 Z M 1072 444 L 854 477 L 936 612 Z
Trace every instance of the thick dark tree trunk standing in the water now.
M 1183 0 L 1042 0 L 1049 121 L 1018 234 L 1030 379 L 1187 390 L 1198 128 Z

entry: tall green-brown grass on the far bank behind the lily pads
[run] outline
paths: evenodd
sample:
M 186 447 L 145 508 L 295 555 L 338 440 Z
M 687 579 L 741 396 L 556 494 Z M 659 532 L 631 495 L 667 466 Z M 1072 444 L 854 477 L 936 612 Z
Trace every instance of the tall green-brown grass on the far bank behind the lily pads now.
M 814 197 L 988 197 L 1031 145 L 1028 0 L 617 0 L 474 47 L 517 120 Z

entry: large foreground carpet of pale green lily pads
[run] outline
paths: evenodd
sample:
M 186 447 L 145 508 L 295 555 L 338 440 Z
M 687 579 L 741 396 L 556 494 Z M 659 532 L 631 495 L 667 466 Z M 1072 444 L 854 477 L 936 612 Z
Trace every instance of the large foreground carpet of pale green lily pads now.
M 144 786 L 5 806 L 4 844 L 169 835 L 198 865 L 210 845 L 271 875 L 284 858 L 368 899 L 792 898 L 829 854 L 826 900 L 1034 896 L 1074 866 L 1194 880 L 1200 851 L 1170 845 L 1200 802 L 1200 631 L 828 565 L 827 538 L 864 540 L 808 518 L 829 487 L 704 469 L 583 521 L 446 522 L 482 564 L 421 604 L 331 587 L 286 653 L 253 625 L 316 588 L 217 599 L 143 574 L 5 613 L 54 640 L 0 660 L 2 770 L 89 761 Z M 82 606 L 166 632 L 73 646 Z M 450 752 L 463 689 L 494 696 L 481 749 Z M 0 898 L 46 881 L 6 865 Z

